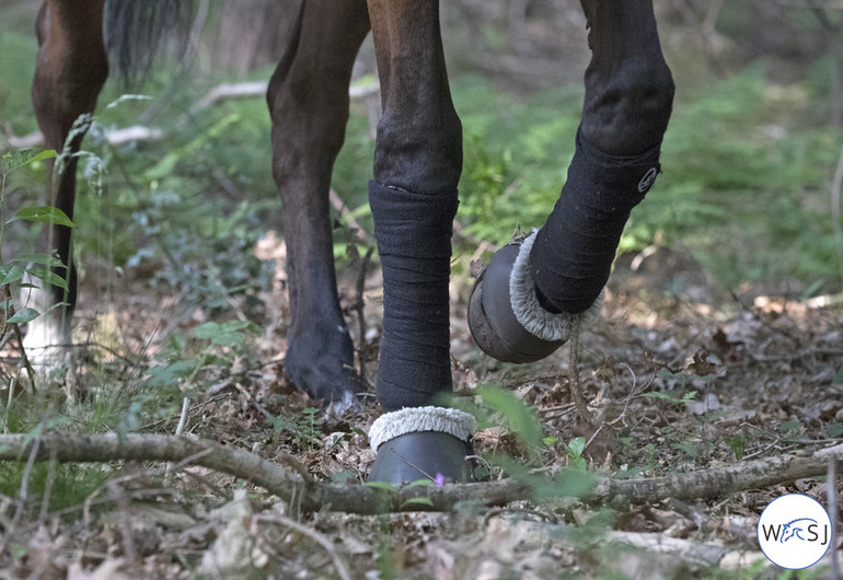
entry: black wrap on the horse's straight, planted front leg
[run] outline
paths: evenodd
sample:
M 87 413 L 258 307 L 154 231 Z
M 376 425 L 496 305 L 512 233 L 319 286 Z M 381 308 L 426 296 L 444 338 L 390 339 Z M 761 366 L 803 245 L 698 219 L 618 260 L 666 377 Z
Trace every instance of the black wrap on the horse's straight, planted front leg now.
M 369 183 L 383 270 L 378 401 L 390 411 L 451 388 L 448 282 L 457 193 L 424 195 Z

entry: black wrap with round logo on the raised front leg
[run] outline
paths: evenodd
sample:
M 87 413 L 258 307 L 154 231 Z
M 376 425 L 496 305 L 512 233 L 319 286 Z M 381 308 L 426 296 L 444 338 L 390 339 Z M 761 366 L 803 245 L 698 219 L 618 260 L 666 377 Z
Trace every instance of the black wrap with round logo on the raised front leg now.
M 600 295 L 632 209 L 660 172 L 659 147 L 619 158 L 577 135 L 568 181 L 530 254 L 536 299 L 554 313 L 576 314 Z

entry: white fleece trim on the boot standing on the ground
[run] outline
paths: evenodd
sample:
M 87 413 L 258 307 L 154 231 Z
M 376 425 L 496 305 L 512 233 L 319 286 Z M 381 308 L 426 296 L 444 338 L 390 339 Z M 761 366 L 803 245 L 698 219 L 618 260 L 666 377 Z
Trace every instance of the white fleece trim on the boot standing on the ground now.
M 477 421 L 473 415 L 446 407 L 404 407 L 378 417 L 369 429 L 369 444 L 378 451 L 386 441 L 407 433 L 438 431 L 461 441 L 474 436 Z

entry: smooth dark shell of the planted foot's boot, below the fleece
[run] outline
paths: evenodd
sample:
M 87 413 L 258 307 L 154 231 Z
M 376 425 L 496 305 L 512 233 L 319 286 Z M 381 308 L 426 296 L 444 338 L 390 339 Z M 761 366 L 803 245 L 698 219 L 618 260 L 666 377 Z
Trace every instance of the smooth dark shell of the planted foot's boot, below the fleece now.
M 383 443 L 378 450 L 370 482 L 392 485 L 418 479 L 437 482 L 473 480 L 471 444 L 452 434 L 424 431 L 406 433 Z

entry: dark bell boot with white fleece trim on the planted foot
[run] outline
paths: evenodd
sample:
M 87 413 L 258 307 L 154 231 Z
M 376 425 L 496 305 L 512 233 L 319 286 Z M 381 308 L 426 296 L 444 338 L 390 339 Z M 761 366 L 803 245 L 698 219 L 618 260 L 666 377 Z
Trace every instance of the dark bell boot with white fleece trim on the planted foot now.
M 379 417 L 369 430 L 377 453 L 370 482 L 473 480 L 474 416 L 446 407 L 405 407 Z

